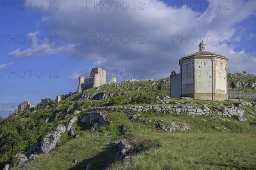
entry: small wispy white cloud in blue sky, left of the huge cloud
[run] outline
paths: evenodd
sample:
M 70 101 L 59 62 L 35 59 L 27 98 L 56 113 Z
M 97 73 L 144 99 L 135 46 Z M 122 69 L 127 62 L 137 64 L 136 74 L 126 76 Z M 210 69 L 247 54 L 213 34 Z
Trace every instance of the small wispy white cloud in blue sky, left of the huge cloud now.
M 42 35 L 40 35 L 39 33 L 40 31 L 28 33 L 28 37 L 32 37 L 29 40 L 31 41 L 32 48 L 28 48 L 24 51 L 21 51 L 20 48 L 17 48 L 16 50 L 9 52 L 8 54 L 15 57 L 27 58 L 27 57 L 34 57 L 39 55 L 56 54 L 59 52 L 69 52 L 74 48 L 74 45 L 72 44 L 55 48 L 54 47 L 55 44 L 52 43 L 52 41 L 42 37 Z M 39 37 L 39 39 L 35 37 Z

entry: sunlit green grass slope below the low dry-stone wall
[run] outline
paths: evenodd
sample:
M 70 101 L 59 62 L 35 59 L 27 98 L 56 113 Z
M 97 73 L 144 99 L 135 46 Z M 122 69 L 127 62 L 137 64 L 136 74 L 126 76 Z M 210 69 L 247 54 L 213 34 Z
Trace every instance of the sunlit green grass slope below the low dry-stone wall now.
M 108 127 L 81 130 L 79 138 L 65 139 L 62 146 L 14 170 L 84 170 L 88 163 L 93 164 L 92 170 L 256 169 L 256 127 L 250 118 L 248 122 L 231 118 L 222 122 L 215 116 L 141 113 L 142 119 L 183 122 L 191 127 L 187 132 L 160 132 L 155 125 L 131 121 L 129 116 L 112 113 Z M 123 125 L 127 125 L 127 135 L 122 134 Z M 116 161 L 117 146 L 109 143 L 138 137 L 160 139 L 161 146 L 136 153 L 130 161 Z

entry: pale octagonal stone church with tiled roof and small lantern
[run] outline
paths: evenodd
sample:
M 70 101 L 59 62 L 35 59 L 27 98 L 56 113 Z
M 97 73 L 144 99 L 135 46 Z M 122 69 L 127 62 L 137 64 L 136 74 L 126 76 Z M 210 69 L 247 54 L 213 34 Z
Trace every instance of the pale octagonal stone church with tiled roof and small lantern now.
M 227 61 L 219 54 L 206 51 L 206 44 L 199 44 L 199 52 L 179 60 L 180 74 L 170 75 L 170 96 L 191 96 L 201 100 L 228 99 Z

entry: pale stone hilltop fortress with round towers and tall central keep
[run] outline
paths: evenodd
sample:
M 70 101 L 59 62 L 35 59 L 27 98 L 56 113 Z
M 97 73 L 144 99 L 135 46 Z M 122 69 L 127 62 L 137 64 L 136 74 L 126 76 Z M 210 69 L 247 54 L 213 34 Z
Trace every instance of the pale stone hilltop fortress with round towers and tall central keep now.
M 116 82 L 116 77 L 112 77 L 110 82 Z M 93 68 L 88 78 L 79 77 L 77 92 L 82 92 L 89 88 L 95 88 L 104 85 L 106 82 L 106 70 Z

